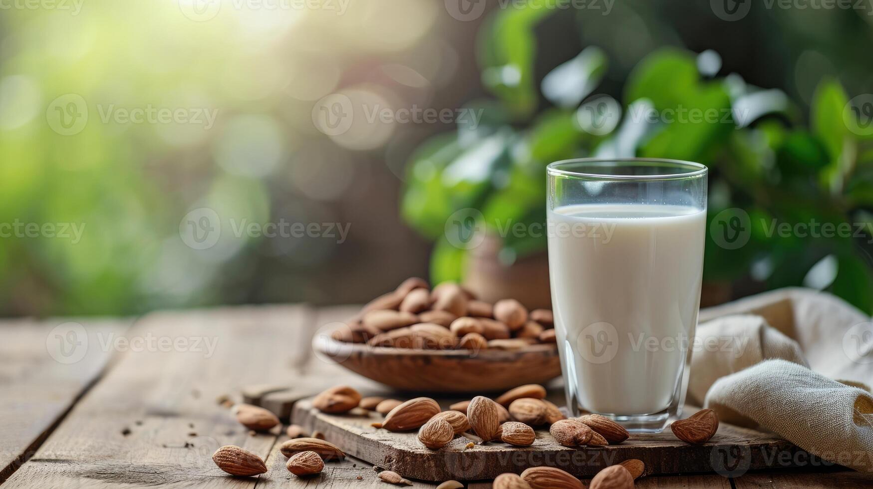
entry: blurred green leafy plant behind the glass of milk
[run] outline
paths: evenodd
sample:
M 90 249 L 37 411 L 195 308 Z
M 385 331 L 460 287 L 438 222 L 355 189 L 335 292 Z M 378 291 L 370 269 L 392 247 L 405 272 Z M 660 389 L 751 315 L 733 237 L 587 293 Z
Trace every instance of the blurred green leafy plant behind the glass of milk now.
M 619 103 L 591 95 L 608 60 L 589 46 L 554 67 L 538 89 L 534 28 L 545 16 L 546 10 L 522 6 L 490 17 L 478 53 L 483 83 L 496 100 L 471 104 L 486 109 L 479 127 L 436 135 L 409 160 L 402 215 L 436 242 L 434 281 L 463 277 L 467 251 L 450 238 L 470 230 L 446 226 L 455 211 L 480 210 L 477 225 L 491 231 L 508 222 L 542 223 L 549 162 L 663 157 L 703 162 L 711 170 L 705 280 L 815 286 L 873 312 L 873 144 L 852 130 L 863 127 L 858 117 L 864 114 L 839 82 L 821 79 L 805 123 L 785 93 L 749 85 L 736 73 L 717 77 L 714 52 L 663 48 L 629 73 Z M 551 107 L 538 113 L 540 93 Z M 597 108 L 610 102 L 622 114 Z M 699 120 L 695 113 L 712 117 Z M 610 117 L 620 121 L 610 127 Z M 597 122 L 608 130 L 598 130 Z M 735 214 L 732 209 L 746 213 L 751 226 L 748 242 L 737 249 L 713 242 L 713 219 L 725 210 Z M 821 227 L 826 224 L 849 226 L 850 235 L 822 232 L 830 229 Z M 820 231 L 809 231 L 815 226 Z M 545 247 L 544 236 L 505 236 L 499 258 L 512 265 Z

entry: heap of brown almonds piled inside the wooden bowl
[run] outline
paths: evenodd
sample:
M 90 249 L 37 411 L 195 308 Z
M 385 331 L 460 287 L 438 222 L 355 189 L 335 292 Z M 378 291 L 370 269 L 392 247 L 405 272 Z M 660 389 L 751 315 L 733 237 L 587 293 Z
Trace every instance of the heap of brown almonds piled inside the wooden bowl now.
M 528 313 L 518 300 L 495 304 L 453 282 L 430 290 L 424 279 L 406 279 L 389 293 L 371 300 L 334 340 L 374 347 L 481 350 L 521 349 L 554 343 L 552 311 Z

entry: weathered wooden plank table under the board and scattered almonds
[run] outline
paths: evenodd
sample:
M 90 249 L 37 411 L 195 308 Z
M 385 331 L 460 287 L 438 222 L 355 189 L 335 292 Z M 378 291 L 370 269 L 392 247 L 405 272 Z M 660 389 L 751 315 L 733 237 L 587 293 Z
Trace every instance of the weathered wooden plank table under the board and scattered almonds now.
M 310 339 L 353 307 L 247 306 L 152 313 L 139 320 L 0 323 L 0 485 L 19 487 L 391 487 L 354 458 L 297 479 L 280 434 L 251 434 L 222 396 L 252 384 L 317 392 L 340 382 L 378 386 L 313 355 Z M 275 430 L 278 433 L 278 430 Z M 270 471 L 231 478 L 212 463 L 223 444 L 265 457 Z M 361 480 L 357 477 L 361 476 Z M 435 487 L 416 483 L 416 487 Z M 491 487 L 489 482 L 470 487 Z M 857 472 L 679 474 L 637 487 L 873 487 Z

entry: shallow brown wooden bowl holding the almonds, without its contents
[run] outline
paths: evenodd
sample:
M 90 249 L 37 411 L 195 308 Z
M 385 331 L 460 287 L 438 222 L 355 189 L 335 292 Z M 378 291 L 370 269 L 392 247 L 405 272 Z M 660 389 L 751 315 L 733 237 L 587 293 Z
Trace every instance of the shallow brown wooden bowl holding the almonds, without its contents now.
M 474 353 L 371 347 L 336 341 L 324 334 L 316 335 L 313 347 L 357 374 L 403 390 L 482 393 L 526 383 L 545 384 L 560 375 L 554 344 Z

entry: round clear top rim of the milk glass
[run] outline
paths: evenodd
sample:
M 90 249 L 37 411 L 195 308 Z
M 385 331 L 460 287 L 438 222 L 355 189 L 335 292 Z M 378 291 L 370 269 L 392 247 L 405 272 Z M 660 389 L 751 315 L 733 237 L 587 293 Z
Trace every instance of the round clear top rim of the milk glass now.
M 648 164 L 647 164 L 648 163 Z M 648 167 L 663 169 L 684 169 L 677 173 L 663 173 L 656 175 L 618 175 L 614 173 L 597 173 L 591 171 L 574 171 L 561 167 L 579 165 L 585 169 L 597 168 L 621 168 L 621 167 Z M 640 181 L 640 180 L 685 180 L 706 176 L 709 168 L 703 163 L 688 162 L 685 160 L 671 160 L 668 158 L 573 158 L 549 163 L 546 173 L 549 176 L 563 176 L 584 180 L 617 180 L 617 181 Z

